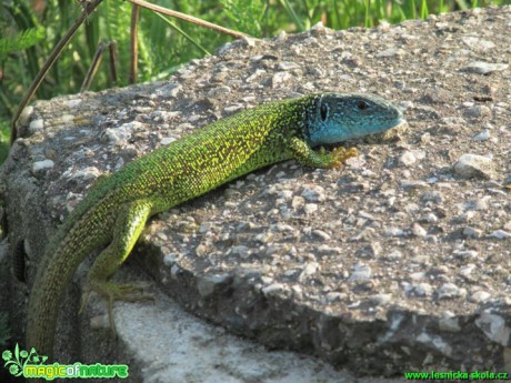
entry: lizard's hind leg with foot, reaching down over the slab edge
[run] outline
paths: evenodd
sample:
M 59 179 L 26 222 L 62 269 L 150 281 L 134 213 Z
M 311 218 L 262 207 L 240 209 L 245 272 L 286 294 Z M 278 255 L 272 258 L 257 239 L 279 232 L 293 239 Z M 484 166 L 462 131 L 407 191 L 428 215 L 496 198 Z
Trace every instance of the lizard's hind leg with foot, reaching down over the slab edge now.
M 87 306 L 90 293 L 97 292 L 108 300 L 108 315 L 110 329 L 116 333 L 113 322 L 114 301 L 147 301 L 153 300 L 152 295 L 142 294 L 142 289 L 131 284 L 117 284 L 110 278 L 126 261 L 137 240 L 142 233 L 146 222 L 151 214 L 151 204 L 147 201 L 126 203 L 118 210 L 110 244 L 98 255 L 87 276 L 87 285 L 82 294 L 80 313 Z M 139 292 L 139 294 L 133 294 Z

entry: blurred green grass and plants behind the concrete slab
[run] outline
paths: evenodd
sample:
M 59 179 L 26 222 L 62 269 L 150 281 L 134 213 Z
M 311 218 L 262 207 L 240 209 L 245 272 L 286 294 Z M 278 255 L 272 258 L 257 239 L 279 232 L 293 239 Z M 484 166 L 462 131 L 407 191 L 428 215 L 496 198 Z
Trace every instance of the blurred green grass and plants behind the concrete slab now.
M 81 12 L 69 0 L 0 0 L 0 161 L 9 121 L 43 61 Z M 322 21 L 332 29 L 372 27 L 425 18 L 472 7 L 509 4 L 511 0 L 153 0 L 161 7 L 208 20 L 254 37 L 284 30 L 300 32 Z M 76 93 L 102 41 L 117 41 L 117 73 L 103 58 L 91 90 L 128 84 L 131 3 L 103 1 L 79 29 L 37 92 L 37 98 Z M 167 17 L 166 17 L 167 18 Z M 139 19 L 138 82 L 163 79 L 180 64 L 212 52 L 232 38 L 142 9 Z

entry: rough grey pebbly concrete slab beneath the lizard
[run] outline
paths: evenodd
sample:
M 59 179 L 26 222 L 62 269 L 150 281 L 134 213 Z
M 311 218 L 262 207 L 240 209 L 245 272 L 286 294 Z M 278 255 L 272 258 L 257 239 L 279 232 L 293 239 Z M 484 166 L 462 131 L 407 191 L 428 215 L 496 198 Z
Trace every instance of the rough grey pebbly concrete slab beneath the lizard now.
M 317 26 L 233 42 L 166 82 L 37 102 L 2 175 L 10 242 L 24 239 L 29 284 L 48 234 L 100 174 L 265 100 L 373 92 L 407 110 L 400 139 L 358 142 L 361 155 L 342 170 L 281 163 L 160 214 L 128 269 L 152 276 L 148 290 L 268 350 L 355 375 L 511 370 L 510 28 L 510 7 L 371 30 Z M 23 288 L 7 289 L 22 323 Z M 173 331 L 160 301 L 119 304 L 118 343 L 90 331 L 104 327 L 94 320 L 101 302 L 92 321 L 61 321 L 60 340 L 88 334 L 60 344 L 61 355 L 124 355 L 149 371 L 138 351 L 146 340 L 171 347 L 170 334 L 152 333 Z

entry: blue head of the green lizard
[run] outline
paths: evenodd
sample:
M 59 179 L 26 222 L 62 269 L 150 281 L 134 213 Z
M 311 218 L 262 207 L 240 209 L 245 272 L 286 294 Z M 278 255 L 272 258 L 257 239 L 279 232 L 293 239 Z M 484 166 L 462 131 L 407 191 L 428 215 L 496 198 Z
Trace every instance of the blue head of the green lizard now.
M 311 147 L 381 133 L 404 122 L 389 101 L 361 93 L 321 93 L 305 109 L 305 139 Z

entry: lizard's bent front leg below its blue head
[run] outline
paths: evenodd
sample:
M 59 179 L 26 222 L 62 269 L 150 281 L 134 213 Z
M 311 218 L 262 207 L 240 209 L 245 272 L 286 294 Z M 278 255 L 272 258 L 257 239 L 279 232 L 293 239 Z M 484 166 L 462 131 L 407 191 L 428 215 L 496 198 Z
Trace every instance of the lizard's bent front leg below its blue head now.
M 303 140 L 293 137 L 289 142 L 289 150 L 300 163 L 311 168 L 340 168 L 351 157 L 358 155 L 357 149 L 338 147 L 331 152 L 312 150 Z

